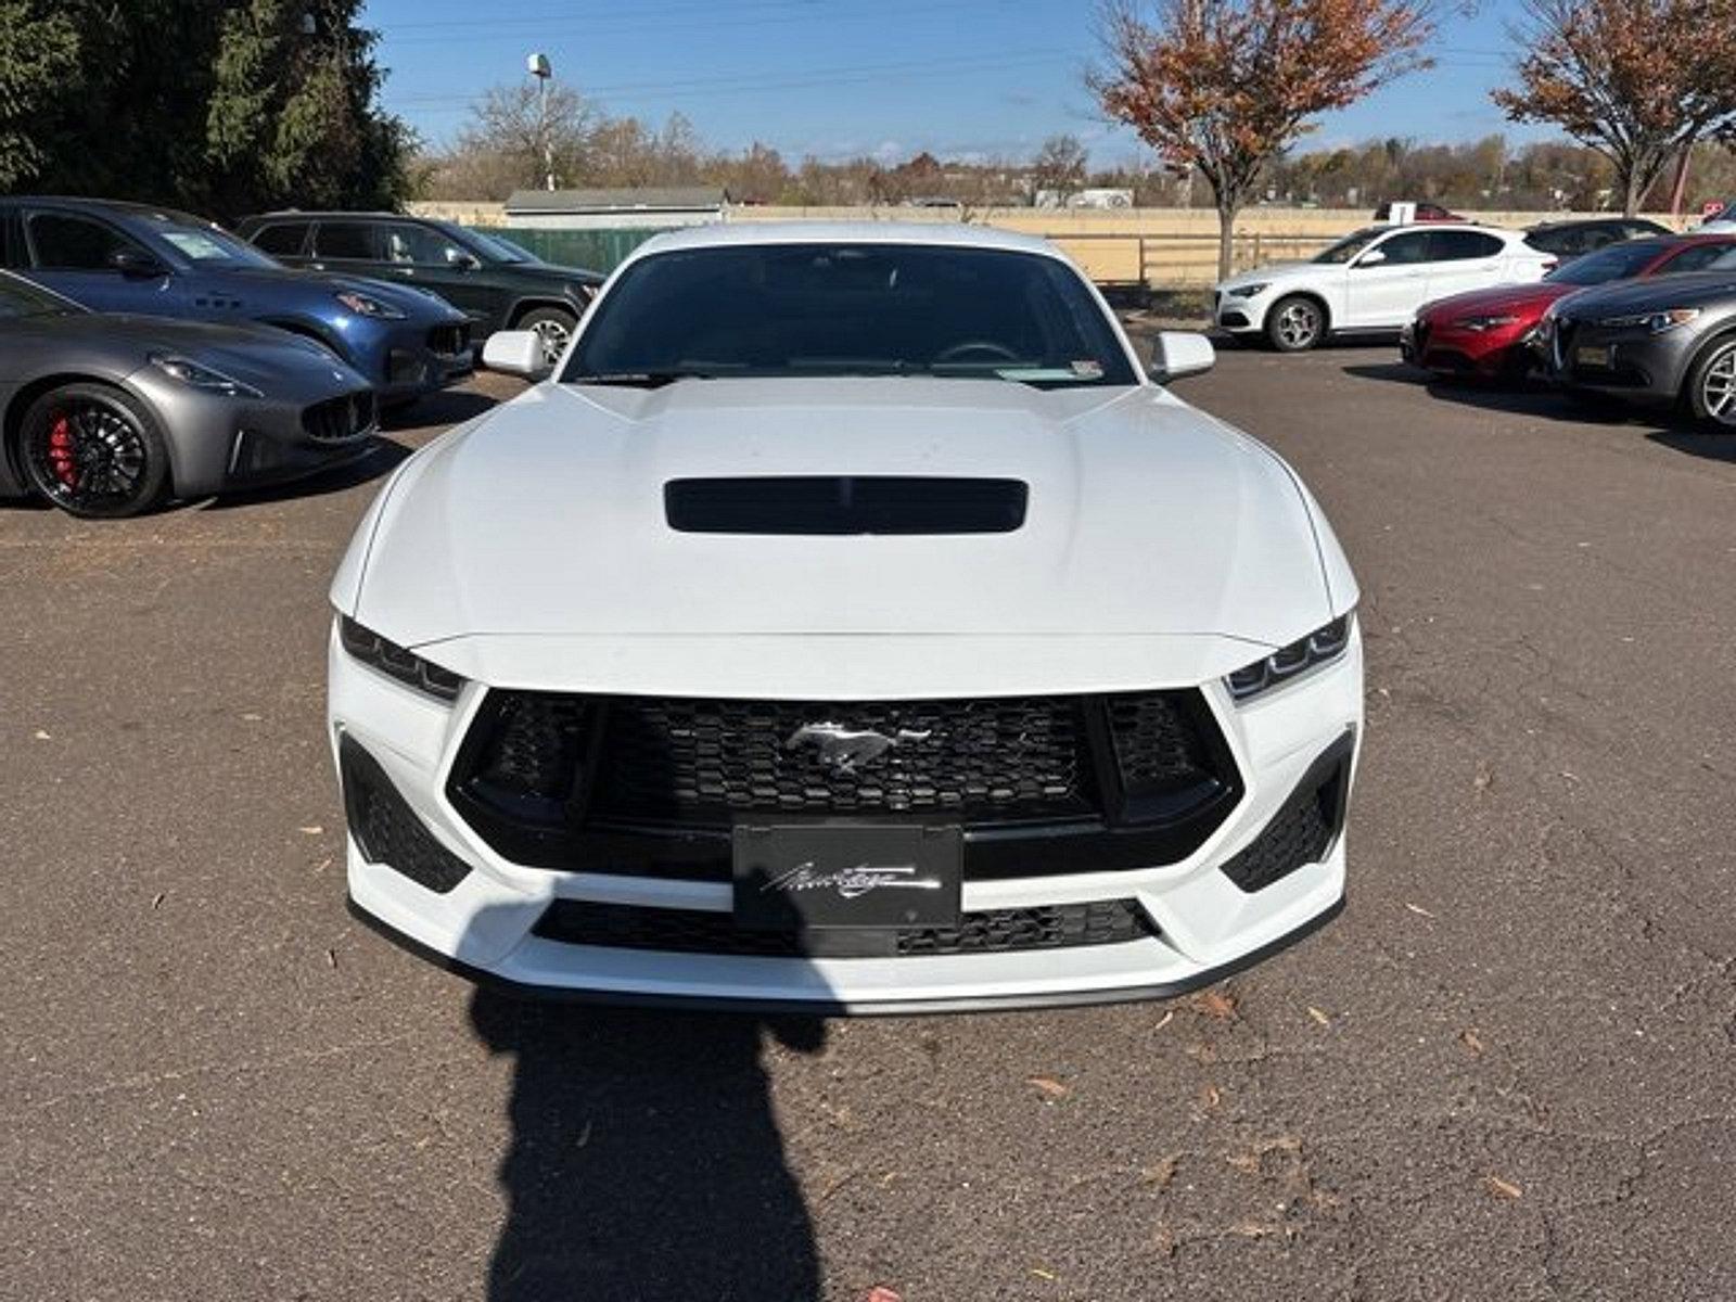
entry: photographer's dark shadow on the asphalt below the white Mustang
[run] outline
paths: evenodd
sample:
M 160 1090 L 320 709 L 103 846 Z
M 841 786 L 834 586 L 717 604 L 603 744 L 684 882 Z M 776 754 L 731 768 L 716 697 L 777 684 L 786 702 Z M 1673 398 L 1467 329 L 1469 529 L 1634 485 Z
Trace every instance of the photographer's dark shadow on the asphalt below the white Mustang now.
M 821 1019 L 477 991 L 470 1024 L 517 1059 L 490 1302 L 819 1297 L 814 1229 L 760 1055 L 771 1042 L 819 1052 Z

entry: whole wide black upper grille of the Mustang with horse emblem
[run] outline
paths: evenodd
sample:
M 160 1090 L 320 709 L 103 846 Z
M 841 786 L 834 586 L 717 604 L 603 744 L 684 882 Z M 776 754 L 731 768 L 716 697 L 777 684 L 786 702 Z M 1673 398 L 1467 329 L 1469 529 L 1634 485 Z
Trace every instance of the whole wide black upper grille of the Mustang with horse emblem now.
M 740 819 L 778 816 L 957 823 L 967 877 L 1069 871 L 1082 835 L 1115 830 L 1163 835 L 1109 835 L 1078 870 L 1174 863 L 1240 790 L 1198 691 L 915 701 L 491 691 L 448 781 L 458 811 L 516 863 L 698 880 L 727 880 Z

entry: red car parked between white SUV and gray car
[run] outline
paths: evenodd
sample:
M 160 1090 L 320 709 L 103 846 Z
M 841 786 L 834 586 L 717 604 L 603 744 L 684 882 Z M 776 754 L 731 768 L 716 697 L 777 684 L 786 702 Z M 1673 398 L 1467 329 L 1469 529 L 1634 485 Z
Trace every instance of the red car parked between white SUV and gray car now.
M 1736 234 L 1672 234 L 1628 240 L 1555 267 L 1531 285 L 1455 293 L 1424 304 L 1399 335 L 1399 352 L 1441 375 L 1519 378 L 1531 370 L 1531 340 L 1543 312 L 1587 285 L 1634 276 L 1700 271 L 1712 264 Z

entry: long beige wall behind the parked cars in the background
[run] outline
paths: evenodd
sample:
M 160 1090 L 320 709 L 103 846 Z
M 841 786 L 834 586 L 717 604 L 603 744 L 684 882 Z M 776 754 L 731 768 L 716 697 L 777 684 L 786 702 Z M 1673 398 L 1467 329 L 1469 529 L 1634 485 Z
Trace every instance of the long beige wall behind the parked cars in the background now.
M 411 212 L 469 226 L 503 226 L 498 203 L 411 203 Z M 731 222 L 816 220 L 958 220 L 958 208 L 731 208 Z M 1210 285 L 1217 279 L 1217 214 L 1210 208 L 983 208 L 969 220 L 1049 236 L 1099 281 L 1160 288 Z M 1524 227 L 1543 220 L 1609 214 L 1479 212 L 1489 226 Z M 1654 215 L 1665 226 L 1689 219 Z M 1250 208 L 1236 219 L 1238 267 L 1307 257 L 1340 234 L 1368 224 L 1368 208 Z

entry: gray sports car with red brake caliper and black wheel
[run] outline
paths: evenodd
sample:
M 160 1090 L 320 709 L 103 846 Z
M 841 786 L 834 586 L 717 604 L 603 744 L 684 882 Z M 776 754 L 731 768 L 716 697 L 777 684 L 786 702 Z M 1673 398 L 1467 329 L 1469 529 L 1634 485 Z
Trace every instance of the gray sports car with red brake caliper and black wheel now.
M 89 312 L 0 273 L 0 498 L 134 516 L 370 451 L 368 382 L 271 326 Z

